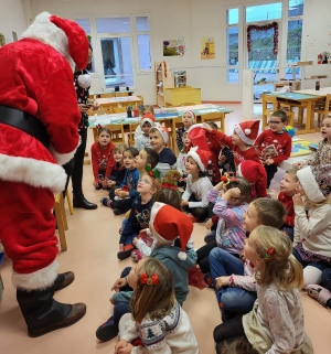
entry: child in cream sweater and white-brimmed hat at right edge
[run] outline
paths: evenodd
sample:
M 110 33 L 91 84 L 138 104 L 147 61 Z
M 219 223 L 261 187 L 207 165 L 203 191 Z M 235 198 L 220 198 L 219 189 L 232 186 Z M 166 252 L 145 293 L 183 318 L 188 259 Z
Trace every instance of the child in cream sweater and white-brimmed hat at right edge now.
M 303 267 L 303 287 L 320 283 L 331 265 L 331 164 L 298 170 L 293 256 Z

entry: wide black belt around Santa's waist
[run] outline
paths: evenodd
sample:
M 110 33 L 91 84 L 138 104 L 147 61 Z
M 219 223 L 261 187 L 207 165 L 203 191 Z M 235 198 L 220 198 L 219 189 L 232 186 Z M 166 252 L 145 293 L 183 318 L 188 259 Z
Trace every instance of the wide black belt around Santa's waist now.
M 0 105 L 0 122 L 25 131 L 49 149 L 50 139 L 46 127 L 26 111 Z

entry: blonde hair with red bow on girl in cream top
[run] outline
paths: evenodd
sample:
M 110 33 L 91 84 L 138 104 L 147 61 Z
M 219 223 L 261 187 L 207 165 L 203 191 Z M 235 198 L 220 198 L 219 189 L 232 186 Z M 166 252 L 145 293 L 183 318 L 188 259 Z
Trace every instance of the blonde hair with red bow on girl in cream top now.
M 258 285 L 274 282 L 278 290 L 301 289 L 303 283 L 302 266 L 292 256 L 289 237 L 270 226 L 258 226 L 253 232 L 256 254 L 264 260 L 255 278 Z

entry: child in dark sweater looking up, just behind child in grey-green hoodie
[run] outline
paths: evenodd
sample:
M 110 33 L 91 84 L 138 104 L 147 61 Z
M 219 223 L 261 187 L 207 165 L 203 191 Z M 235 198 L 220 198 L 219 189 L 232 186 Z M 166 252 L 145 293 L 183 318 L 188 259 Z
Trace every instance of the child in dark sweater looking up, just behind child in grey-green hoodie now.
M 142 150 L 145 151 L 145 150 Z M 125 223 L 120 239 L 117 258 L 124 260 L 129 258 L 134 250 L 132 242 L 141 229 L 149 225 L 150 211 L 153 204 L 153 195 L 158 191 L 159 171 L 148 168 L 149 172 L 143 174 L 138 181 L 137 192 L 140 194 L 132 203 L 128 221 Z

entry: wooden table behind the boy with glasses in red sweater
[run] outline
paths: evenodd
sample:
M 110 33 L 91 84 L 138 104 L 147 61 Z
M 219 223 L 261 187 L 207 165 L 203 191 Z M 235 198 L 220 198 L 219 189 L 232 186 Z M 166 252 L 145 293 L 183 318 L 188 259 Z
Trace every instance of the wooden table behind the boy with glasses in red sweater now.
M 318 100 L 322 99 L 323 95 L 313 94 L 309 95 L 307 93 L 301 92 L 292 92 L 292 93 L 271 93 L 270 96 L 275 96 L 277 98 L 277 101 L 279 103 L 287 103 L 292 106 L 299 107 L 299 110 L 301 109 L 301 112 L 303 109 L 307 109 L 307 122 L 305 129 L 299 129 L 296 131 L 297 135 L 301 133 L 308 133 L 308 132 L 314 132 L 316 129 L 313 128 L 313 118 L 314 118 L 314 105 Z M 316 92 L 320 93 L 320 92 Z M 263 103 L 263 112 L 267 109 L 267 104 Z M 263 114 L 263 118 L 266 119 L 265 114 Z M 302 119 L 302 118 L 301 118 Z M 300 118 L 299 118 L 300 121 Z

